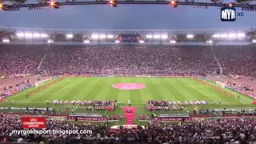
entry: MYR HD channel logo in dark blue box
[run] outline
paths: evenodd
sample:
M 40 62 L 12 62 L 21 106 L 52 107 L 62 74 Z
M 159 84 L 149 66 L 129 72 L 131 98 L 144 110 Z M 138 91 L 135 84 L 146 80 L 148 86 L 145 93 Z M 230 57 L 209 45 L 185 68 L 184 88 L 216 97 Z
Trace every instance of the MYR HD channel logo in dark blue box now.
M 234 22 L 237 16 L 242 17 L 243 12 L 237 13 L 234 7 L 222 7 L 221 9 L 222 22 Z

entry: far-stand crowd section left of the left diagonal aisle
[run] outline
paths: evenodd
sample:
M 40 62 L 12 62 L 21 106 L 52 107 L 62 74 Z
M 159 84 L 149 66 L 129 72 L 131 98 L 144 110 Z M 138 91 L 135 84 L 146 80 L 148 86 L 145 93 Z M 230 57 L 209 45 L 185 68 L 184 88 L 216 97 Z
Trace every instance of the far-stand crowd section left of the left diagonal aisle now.
M 46 49 L 33 45 L 0 45 L 0 75 L 7 78 L 34 74 Z

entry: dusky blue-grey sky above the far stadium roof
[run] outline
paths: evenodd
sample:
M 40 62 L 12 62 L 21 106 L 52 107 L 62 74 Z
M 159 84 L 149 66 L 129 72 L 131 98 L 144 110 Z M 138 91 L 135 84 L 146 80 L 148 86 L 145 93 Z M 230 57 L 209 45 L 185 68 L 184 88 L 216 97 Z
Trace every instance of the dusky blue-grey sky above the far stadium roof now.
M 242 11 L 237 9 L 237 11 Z M 65 10 L 0 11 L 0 26 L 43 29 L 233 29 L 256 27 L 256 13 L 244 11 L 236 22 L 221 22 L 220 10 L 191 6 L 69 6 Z

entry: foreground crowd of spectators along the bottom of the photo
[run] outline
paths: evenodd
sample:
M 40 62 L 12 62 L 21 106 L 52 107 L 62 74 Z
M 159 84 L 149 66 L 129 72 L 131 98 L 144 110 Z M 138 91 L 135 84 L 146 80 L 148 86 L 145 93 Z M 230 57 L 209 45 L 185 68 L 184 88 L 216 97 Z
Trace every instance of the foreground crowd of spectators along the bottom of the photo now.
M 128 129 L 120 126 L 119 129 L 107 127 L 106 124 L 90 125 L 49 120 L 46 130 L 92 130 L 92 134 L 10 134 L 11 130 L 22 130 L 21 121 L 17 115 L 0 114 L 0 140 L 20 142 L 46 143 L 249 143 L 256 142 L 256 119 L 231 118 L 198 121 L 192 123 L 154 123 L 149 126 L 138 126 Z M 84 140 L 90 137 L 91 140 Z M 92 140 L 98 138 L 97 141 Z M 103 139 L 106 139 L 104 141 Z

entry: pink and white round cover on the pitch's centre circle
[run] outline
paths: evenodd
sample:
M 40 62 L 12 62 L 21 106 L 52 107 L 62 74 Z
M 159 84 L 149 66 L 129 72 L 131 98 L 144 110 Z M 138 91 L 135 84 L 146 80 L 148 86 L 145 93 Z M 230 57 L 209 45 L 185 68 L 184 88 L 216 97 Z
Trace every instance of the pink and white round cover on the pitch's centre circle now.
M 117 83 L 113 87 L 120 90 L 139 90 L 144 89 L 146 85 L 142 83 Z

